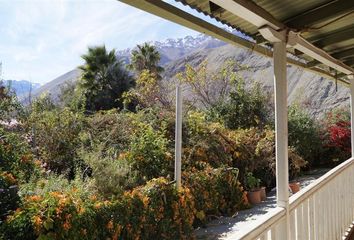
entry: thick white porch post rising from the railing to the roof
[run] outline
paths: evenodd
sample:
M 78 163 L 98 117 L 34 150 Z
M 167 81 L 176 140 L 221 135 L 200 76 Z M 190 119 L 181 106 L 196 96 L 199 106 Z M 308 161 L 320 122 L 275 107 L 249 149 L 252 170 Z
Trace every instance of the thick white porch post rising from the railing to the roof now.
M 286 210 L 285 226 L 280 239 L 289 239 L 289 174 L 288 174 L 288 105 L 286 77 L 286 43 L 274 43 L 274 92 L 277 205 Z

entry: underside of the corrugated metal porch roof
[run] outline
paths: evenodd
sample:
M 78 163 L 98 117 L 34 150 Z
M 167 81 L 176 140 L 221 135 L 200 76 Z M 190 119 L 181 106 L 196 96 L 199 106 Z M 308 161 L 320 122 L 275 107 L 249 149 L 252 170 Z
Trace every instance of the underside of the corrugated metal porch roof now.
M 209 0 L 176 1 L 213 17 L 254 39 L 260 36 L 256 26 L 215 6 Z M 354 47 L 354 0 L 253 0 L 252 2 L 270 13 L 279 22 L 284 23 L 289 29 L 300 32 L 301 36 L 332 56 L 341 52 L 339 60 L 354 67 L 353 59 L 348 60 L 348 57 L 353 54 L 345 55 L 345 50 Z M 302 57 L 311 61 L 306 56 Z

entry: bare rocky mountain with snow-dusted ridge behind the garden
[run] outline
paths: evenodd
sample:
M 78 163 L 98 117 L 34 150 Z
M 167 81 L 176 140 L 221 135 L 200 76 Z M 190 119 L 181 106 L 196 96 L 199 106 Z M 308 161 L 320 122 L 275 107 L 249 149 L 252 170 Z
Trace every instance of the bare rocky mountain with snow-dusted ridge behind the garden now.
M 241 65 L 250 66 L 249 70 L 242 72 L 246 84 L 259 82 L 266 91 L 273 92 L 272 59 L 251 50 L 232 46 L 203 34 L 150 43 L 161 54 L 160 63 L 165 68 L 165 81 L 174 81 L 175 74 L 183 71 L 186 63 L 197 66 L 207 61 L 208 71 L 212 72 L 220 68 L 227 59 L 233 59 Z M 131 51 L 132 49 L 120 50 L 117 55 L 125 63 L 129 63 Z M 53 98 L 58 99 L 60 84 L 66 80 L 76 81 L 79 76 L 79 70 L 74 69 L 37 89 L 35 95 L 46 90 L 52 93 Z M 332 108 L 348 105 L 349 91 L 322 76 L 288 65 L 288 102 L 299 103 L 311 115 L 321 117 Z

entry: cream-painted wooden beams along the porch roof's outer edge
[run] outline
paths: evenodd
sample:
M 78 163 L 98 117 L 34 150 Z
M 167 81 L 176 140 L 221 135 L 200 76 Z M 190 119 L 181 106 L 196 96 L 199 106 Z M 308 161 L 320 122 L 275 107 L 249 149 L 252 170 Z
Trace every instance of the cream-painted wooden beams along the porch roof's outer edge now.
M 246 38 L 232 34 L 162 0 L 120 1 L 195 31 L 213 36 L 227 43 L 252 49 L 253 51 L 268 57 L 272 57 L 273 55 L 272 49 L 264 43 L 257 44 L 256 41 L 247 40 Z M 348 66 L 345 62 L 335 58 L 335 56 L 341 56 L 342 58 L 346 57 L 346 52 L 336 51 L 336 53 L 330 55 L 328 52 L 315 46 L 312 42 L 302 37 L 300 32 L 296 32 L 296 30 L 287 27 L 285 23 L 278 21 L 269 12 L 256 5 L 253 1 L 190 0 L 191 4 L 188 3 L 188 0 L 176 1 L 181 1 L 199 11 L 202 11 L 202 6 L 199 6 L 198 4 L 207 2 L 210 6 L 210 13 L 206 13 L 205 11 L 203 11 L 203 13 L 214 17 L 222 23 L 231 26 L 230 23 L 220 18 L 220 12 L 228 11 L 228 13 L 233 14 L 238 19 L 247 22 L 245 23 L 245 26 L 248 26 L 247 24 L 249 24 L 255 27 L 256 30 L 253 30 L 253 36 L 259 34 L 268 42 L 286 41 L 289 49 L 291 49 L 287 58 L 289 64 L 305 68 L 317 74 L 325 75 L 328 78 L 338 79 L 344 84 L 348 84 L 348 80 L 352 78 L 354 74 L 354 69 L 351 66 Z M 232 25 L 232 27 L 240 30 L 234 25 Z M 253 28 L 249 27 L 249 29 L 252 30 Z M 351 54 L 353 55 L 353 53 Z M 349 59 L 347 62 L 350 61 L 351 60 Z

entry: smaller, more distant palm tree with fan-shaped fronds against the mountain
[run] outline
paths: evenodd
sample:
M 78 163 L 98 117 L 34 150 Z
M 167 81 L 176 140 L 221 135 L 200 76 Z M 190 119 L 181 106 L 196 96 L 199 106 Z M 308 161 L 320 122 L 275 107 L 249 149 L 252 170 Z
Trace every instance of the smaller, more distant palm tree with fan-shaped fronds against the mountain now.
M 157 49 L 148 43 L 138 45 L 136 49 L 132 51 L 131 69 L 137 73 L 141 73 L 143 70 L 149 70 L 151 73 L 159 75 L 164 69 L 159 66 L 160 53 Z

